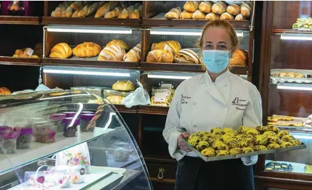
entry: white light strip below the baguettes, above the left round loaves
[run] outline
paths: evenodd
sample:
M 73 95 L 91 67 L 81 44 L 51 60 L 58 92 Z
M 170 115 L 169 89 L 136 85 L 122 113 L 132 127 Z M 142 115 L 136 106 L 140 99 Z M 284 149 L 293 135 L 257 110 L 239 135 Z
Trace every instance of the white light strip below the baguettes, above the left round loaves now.
M 101 27 L 101 26 L 48 26 L 46 31 L 51 33 L 104 33 L 104 34 L 131 34 L 127 27 Z

